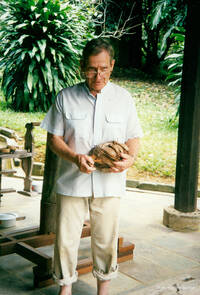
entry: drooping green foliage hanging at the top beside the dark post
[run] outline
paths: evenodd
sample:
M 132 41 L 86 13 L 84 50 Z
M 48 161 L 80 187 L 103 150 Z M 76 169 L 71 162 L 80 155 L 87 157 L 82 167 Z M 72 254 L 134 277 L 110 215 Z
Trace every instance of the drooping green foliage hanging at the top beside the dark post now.
M 177 27 L 185 26 L 184 0 L 143 1 L 143 52 L 147 68 L 160 65 L 175 42 Z

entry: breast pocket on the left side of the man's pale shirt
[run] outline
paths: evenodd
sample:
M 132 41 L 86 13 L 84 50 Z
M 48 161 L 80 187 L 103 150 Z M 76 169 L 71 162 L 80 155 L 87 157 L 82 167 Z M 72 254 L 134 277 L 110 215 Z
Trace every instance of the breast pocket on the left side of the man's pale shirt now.
M 66 130 L 75 138 L 85 138 L 88 133 L 87 114 L 85 112 L 65 113 Z

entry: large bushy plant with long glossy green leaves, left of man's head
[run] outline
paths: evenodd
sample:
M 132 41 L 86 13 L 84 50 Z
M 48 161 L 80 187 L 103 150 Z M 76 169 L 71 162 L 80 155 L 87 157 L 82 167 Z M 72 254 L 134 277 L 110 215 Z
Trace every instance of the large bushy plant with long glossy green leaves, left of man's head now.
M 89 1 L 1 1 L 2 90 L 14 110 L 47 111 L 80 79 L 79 57 L 93 37 Z

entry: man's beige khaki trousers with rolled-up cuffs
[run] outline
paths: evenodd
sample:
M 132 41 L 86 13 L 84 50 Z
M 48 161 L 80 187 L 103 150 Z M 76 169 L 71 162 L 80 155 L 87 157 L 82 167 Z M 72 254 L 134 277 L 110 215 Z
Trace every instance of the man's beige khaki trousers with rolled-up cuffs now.
M 57 195 L 54 279 L 59 285 L 77 280 L 77 260 L 83 223 L 90 213 L 93 275 L 110 280 L 117 275 L 120 198 L 79 198 Z

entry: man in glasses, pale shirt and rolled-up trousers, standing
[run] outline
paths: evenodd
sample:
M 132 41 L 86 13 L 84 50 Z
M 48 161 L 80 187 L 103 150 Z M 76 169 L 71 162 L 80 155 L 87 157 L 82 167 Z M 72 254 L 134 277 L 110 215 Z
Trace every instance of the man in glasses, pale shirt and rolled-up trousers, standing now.
M 134 163 L 142 135 L 133 99 L 109 82 L 114 51 L 102 38 L 83 50 L 81 69 L 85 82 L 63 89 L 42 122 L 48 144 L 61 160 L 56 181 L 57 219 L 54 278 L 60 295 L 70 295 L 77 280 L 77 252 L 89 210 L 93 275 L 97 294 L 108 294 L 117 274 L 117 240 L 120 197 L 125 193 L 126 171 Z M 88 156 L 95 145 L 116 140 L 126 143 L 129 154 L 110 171 L 95 169 Z

